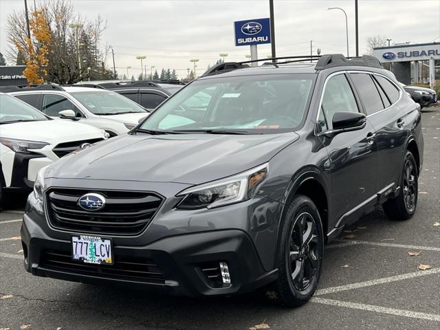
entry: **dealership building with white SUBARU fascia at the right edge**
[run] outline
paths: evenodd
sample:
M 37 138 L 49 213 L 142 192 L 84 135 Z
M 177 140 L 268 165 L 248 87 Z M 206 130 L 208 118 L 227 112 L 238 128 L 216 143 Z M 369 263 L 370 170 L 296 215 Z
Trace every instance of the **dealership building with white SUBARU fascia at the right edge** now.
M 379 59 L 397 80 L 410 83 L 428 83 L 433 88 L 440 79 L 440 43 L 417 43 L 377 47 L 373 55 Z

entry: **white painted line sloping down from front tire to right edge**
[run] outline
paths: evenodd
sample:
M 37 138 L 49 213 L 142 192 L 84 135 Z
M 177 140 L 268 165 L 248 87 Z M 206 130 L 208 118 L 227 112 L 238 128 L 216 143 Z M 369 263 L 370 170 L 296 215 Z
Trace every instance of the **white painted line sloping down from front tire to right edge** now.
M 375 306 L 375 305 L 350 303 L 350 302 L 342 301 L 342 300 L 325 299 L 325 298 L 317 298 L 317 297 L 312 297 L 310 299 L 310 301 L 312 303 L 318 303 L 318 304 L 323 304 L 323 305 L 347 307 L 347 308 L 351 308 L 351 309 L 361 309 L 363 311 L 375 311 L 377 313 L 391 314 L 391 315 L 397 315 L 397 316 L 406 316 L 407 318 L 419 318 L 421 320 L 430 320 L 430 321 L 440 322 L 440 315 L 421 313 L 419 311 L 408 311 L 405 309 L 395 309 L 395 308 L 388 308 L 388 307 Z

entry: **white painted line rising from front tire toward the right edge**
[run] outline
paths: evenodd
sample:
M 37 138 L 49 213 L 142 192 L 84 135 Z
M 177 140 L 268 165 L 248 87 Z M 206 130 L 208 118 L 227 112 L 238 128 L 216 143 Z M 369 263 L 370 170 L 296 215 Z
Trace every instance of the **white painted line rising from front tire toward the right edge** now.
M 426 275 L 439 274 L 439 273 L 440 273 L 440 268 L 432 268 L 430 270 L 406 273 L 406 274 L 383 277 L 383 278 L 376 278 L 375 280 L 371 280 L 371 281 L 351 283 L 347 285 L 339 285 L 338 287 L 327 287 L 326 289 L 318 290 L 315 296 L 321 296 L 322 294 L 334 294 L 336 292 L 359 289 L 360 287 L 371 287 L 372 285 L 403 281 L 403 280 L 408 280 L 409 278 L 415 278 L 419 276 L 426 276 Z

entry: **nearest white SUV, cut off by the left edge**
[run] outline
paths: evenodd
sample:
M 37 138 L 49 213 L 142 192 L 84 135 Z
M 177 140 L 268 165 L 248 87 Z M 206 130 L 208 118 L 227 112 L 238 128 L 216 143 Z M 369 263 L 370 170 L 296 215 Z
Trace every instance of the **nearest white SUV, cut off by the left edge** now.
M 40 168 L 107 137 L 102 129 L 52 120 L 0 93 L 0 206 L 7 190 L 32 189 Z

